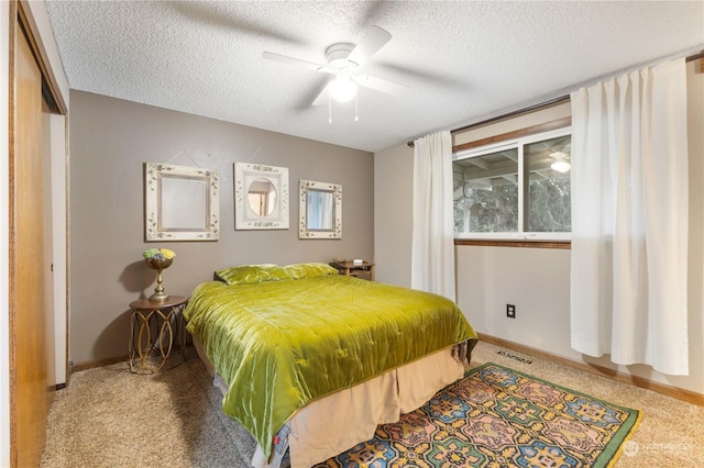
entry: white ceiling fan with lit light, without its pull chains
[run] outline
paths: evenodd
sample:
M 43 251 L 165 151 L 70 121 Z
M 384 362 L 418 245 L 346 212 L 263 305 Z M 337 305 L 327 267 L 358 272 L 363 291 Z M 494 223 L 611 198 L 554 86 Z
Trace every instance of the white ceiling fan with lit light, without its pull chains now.
M 408 86 L 360 73 L 360 68 L 391 38 L 392 35 L 387 31 L 378 26 L 372 26 L 356 45 L 336 43 L 329 46 L 326 49 L 328 63 L 324 65 L 273 52 L 264 52 L 262 57 L 330 75 L 330 79 L 312 101 L 312 105 L 328 103 L 330 98 L 346 102 L 356 96 L 358 85 L 388 94 L 400 96 L 409 89 Z

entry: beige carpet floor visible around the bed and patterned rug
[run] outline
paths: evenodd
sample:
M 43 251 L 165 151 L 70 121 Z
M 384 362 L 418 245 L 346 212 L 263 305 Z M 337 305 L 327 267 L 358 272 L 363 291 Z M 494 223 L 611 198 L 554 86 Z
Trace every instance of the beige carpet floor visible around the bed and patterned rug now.
M 642 410 L 616 467 L 704 466 L 702 406 L 480 343 L 472 366 L 486 361 Z M 153 376 L 130 374 L 127 364 L 74 374 L 56 392 L 47 425 L 42 467 L 244 468 L 254 450 L 253 438 L 222 414 L 220 394 L 193 353 Z

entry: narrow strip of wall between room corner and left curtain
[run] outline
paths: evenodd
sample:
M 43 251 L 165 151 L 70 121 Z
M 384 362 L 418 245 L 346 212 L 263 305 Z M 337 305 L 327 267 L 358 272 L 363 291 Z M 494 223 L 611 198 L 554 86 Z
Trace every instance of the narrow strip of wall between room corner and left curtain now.
M 374 154 L 375 279 L 410 287 L 414 149 L 396 146 Z

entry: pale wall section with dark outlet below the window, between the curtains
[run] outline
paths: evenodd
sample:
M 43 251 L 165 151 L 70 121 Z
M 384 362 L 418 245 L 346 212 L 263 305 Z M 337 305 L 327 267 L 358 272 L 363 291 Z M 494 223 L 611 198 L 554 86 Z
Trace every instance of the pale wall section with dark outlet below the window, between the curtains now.
M 455 252 L 458 304 L 474 330 L 549 353 L 569 350 L 570 250 L 458 246 Z M 506 316 L 506 304 L 516 305 L 516 319 Z

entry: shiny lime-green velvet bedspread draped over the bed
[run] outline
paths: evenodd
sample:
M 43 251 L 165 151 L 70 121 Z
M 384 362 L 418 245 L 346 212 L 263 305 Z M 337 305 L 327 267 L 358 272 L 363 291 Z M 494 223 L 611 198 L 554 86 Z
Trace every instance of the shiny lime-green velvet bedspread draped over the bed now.
M 344 276 L 199 285 L 184 312 L 260 443 L 297 409 L 476 335 L 440 296 Z

